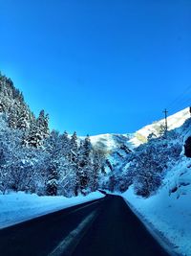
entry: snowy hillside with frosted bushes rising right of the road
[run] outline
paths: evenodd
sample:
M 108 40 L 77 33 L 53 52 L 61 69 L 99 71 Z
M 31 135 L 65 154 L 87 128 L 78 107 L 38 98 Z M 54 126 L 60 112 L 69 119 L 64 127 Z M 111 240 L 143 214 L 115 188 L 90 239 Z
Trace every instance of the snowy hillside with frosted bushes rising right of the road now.
M 187 120 L 186 120 L 187 119 Z M 186 121 L 185 121 L 186 120 Z M 142 134 L 154 131 L 152 126 Z M 116 181 L 143 222 L 180 255 L 191 255 L 191 119 L 189 109 L 169 117 L 167 139 L 138 147 L 121 163 Z M 122 179 L 123 181 L 121 181 Z M 125 181 L 124 181 L 125 180 Z M 111 185 L 110 185 L 111 186 Z M 165 239 L 164 239 L 165 238 Z

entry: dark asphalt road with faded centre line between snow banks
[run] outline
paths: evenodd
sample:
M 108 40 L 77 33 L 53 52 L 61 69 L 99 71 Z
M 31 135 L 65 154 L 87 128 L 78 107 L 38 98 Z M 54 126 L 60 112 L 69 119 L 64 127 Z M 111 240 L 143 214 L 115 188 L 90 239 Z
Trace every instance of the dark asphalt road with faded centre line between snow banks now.
M 168 255 L 128 208 L 107 195 L 0 230 L 2 256 Z

